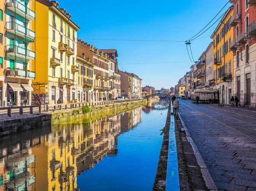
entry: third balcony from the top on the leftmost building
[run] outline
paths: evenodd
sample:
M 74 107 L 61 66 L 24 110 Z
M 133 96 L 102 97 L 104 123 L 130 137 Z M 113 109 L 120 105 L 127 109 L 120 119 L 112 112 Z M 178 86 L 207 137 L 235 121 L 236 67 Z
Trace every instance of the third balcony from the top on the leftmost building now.
M 16 46 L 16 45 L 7 45 L 6 46 L 7 55 L 12 57 L 20 57 L 24 60 L 34 60 L 35 52 L 28 50 L 26 48 Z

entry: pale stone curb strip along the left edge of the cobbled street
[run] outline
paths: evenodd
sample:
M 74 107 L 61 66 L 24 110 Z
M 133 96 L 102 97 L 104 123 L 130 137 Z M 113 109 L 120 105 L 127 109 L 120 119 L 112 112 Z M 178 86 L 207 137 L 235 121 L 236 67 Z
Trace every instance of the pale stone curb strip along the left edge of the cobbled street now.
M 185 125 L 180 113 L 178 113 L 178 114 L 179 114 L 179 117 L 180 117 L 180 122 L 183 125 L 183 128 L 181 130 L 186 132 L 186 138 L 187 138 L 188 142 L 190 143 L 190 145 L 192 146 L 192 149 L 193 149 L 194 154 L 195 154 L 195 158 L 198 162 L 198 165 L 201 168 L 201 173 L 203 175 L 204 182 L 205 182 L 207 188 L 210 191 L 218 191 L 218 188 L 215 185 L 215 182 L 212 180 L 212 177 L 211 177 L 211 175 L 210 175 L 210 173 L 209 173 L 209 171 L 208 171 L 208 169 L 207 169 L 207 167 L 204 163 L 204 160 L 203 160 L 201 154 L 199 153 L 199 150 L 198 150 L 197 146 L 195 145 L 192 137 L 189 134 L 189 130 L 186 128 L 186 125 Z

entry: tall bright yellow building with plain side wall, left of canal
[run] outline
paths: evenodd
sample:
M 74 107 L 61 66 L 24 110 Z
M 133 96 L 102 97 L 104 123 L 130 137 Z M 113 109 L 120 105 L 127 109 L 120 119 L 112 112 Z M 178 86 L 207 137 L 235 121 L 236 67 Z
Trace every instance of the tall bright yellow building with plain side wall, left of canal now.
M 35 94 L 49 95 L 49 104 L 76 100 L 77 31 L 66 9 L 57 1 L 37 0 L 36 3 L 36 79 L 32 81 Z

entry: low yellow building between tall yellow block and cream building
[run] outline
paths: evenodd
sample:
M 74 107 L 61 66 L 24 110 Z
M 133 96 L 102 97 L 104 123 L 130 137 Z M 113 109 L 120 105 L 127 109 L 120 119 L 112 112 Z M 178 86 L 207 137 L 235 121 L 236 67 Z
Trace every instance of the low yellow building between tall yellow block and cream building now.
M 93 100 L 93 68 L 95 64 L 90 62 L 90 58 L 76 56 L 76 63 L 78 65 L 77 77 L 77 100 L 80 102 L 91 102 Z

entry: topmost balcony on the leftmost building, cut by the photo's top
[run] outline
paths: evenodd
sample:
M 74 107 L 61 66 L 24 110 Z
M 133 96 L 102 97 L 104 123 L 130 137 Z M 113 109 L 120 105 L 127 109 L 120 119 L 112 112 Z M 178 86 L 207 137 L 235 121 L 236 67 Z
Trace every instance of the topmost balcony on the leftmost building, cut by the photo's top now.
M 26 18 L 27 20 L 35 20 L 35 12 L 17 0 L 7 0 L 6 6 L 7 9 L 19 14 L 21 17 Z

